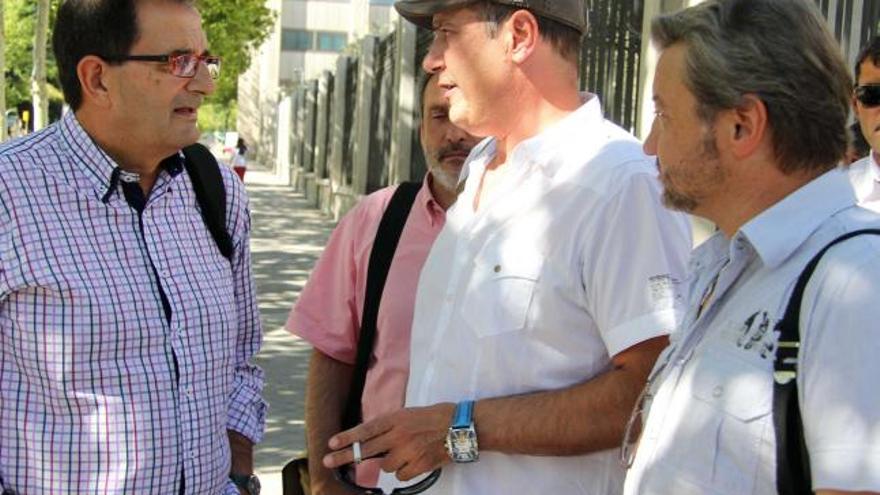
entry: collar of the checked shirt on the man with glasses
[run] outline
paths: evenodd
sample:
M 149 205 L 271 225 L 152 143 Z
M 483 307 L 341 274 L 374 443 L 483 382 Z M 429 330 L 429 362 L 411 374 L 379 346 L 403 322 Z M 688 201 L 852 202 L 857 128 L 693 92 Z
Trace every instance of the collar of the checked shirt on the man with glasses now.
M 61 119 L 62 141 L 67 147 L 68 156 L 75 164 L 75 173 L 85 177 L 86 181 L 98 193 L 104 202 L 118 191 L 120 175 L 123 174 L 119 165 L 111 158 L 79 123 L 74 112 L 67 112 Z M 183 153 L 162 160 L 160 167 L 173 178 L 183 170 Z M 157 181 L 158 184 L 158 181 Z

